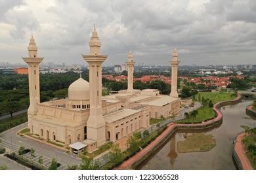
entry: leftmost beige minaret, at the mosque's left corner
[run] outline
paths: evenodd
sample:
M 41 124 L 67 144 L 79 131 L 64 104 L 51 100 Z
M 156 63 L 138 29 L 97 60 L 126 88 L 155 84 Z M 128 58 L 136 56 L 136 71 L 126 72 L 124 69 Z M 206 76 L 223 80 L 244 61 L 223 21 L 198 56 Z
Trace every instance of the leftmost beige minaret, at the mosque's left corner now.
M 43 61 L 43 58 L 37 58 L 37 46 L 33 34 L 28 44 L 28 57 L 23 58 L 28 63 L 28 83 L 30 88 L 30 107 L 28 108 L 28 127 L 32 129 L 32 122 L 30 117 L 37 114 L 37 103 L 40 103 L 40 84 L 39 84 L 39 63 Z

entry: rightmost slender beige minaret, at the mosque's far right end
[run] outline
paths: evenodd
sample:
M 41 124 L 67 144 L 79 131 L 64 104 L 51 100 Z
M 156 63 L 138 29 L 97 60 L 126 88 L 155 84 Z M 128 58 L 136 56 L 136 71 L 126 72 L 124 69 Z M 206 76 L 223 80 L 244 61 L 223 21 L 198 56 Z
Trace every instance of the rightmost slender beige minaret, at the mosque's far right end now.
M 178 92 L 177 92 L 177 80 L 178 80 L 178 53 L 176 48 L 173 49 L 173 58 L 170 61 L 171 63 L 171 97 L 179 98 Z

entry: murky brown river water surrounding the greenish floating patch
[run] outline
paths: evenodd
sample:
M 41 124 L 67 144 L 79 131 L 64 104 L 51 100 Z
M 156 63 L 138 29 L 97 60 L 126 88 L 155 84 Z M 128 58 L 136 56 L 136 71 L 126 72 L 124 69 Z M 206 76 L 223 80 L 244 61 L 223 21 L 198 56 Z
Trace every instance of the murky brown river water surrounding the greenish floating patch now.
M 256 127 L 256 120 L 245 114 L 252 101 L 221 107 L 223 123 L 219 127 L 203 131 L 179 131 L 169 138 L 161 148 L 146 159 L 137 169 L 236 169 L 232 160 L 232 146 L 236 135 L 244 131 L 240 125 Z M 216 146 L 208 152 L 177 152 L 177 142 L 184 135 L 203 132 L 216 139 Z

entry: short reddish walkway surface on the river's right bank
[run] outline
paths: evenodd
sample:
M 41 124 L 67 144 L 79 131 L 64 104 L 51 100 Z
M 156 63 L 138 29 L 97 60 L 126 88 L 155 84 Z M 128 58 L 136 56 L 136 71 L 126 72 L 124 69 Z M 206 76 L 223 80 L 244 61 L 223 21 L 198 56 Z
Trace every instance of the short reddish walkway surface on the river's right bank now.
M 242 163 L 243 169 L 252 170 L 253 168 L 251 167 L 251 163 L 249 162 L 249 159 L 246 157 L 244 144 L 242 142 L 242 139 L 244 136 L 245 136 L 245 133 L 238 134 L 236 138 L 235 151 L 236 151 L 236 154 L 238 154 L 238 158 Z

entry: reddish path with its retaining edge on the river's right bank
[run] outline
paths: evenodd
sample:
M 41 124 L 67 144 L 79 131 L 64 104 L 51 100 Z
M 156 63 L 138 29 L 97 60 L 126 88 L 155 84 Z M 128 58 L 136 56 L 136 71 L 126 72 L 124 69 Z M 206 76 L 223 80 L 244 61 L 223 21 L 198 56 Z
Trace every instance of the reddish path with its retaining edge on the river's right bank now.
M 251 163 L 246 156 L 244 144 L 242 139 L 244 138 L 245 133 L 238 133 L 236 136 L 236 142 L 234 144 L 234 148 L 232 150 L 232 157 L 236 162 L 236 166 L 240 170 L 252 170 Z

